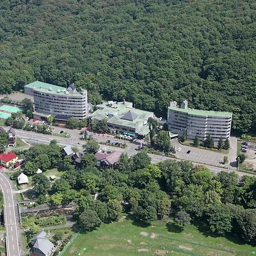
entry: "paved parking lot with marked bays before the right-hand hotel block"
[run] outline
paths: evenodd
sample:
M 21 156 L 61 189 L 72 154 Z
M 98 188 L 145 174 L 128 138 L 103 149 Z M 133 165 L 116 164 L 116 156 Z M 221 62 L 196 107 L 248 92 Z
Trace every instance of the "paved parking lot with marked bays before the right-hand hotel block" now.
M 195 147 L 189 147 L 189 146 L 183 146 L 179 142 L 177 142 L 176 139 L 172 140 L 172 146 L 176 148 L 176 156 L 179 159 L 183 160 L 189 160 L 196 163 L 202 163 L 202 164 L 209 164 L 212 166 L 221 166 L 223 162 L 223 158 L 225 154 L 210 151 L 210 150 L 204 150 L 201 148 L 195 148 Z M 177 151 L 177 148 L 181 148 L 180 151 Z M 190 150 L 190 154 L 187 154 L 187 151 Z M 234 156 L 234 159 L 229 159 L 229 161 L 233 161 L 236 159 L 236 156 Z M 226 165 L 228 167 L 228 165 Z M 232 166 L 229 166 L 229 168 L 234 168 Z

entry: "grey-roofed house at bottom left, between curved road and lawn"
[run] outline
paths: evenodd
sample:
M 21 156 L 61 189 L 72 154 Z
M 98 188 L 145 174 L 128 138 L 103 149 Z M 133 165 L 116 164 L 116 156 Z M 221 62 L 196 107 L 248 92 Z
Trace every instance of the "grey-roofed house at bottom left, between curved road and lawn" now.
M 54 248 L 52 242 L 46 238 L 46 232 L 39 231 L 31 240 L 32 256 L 49 256 Z

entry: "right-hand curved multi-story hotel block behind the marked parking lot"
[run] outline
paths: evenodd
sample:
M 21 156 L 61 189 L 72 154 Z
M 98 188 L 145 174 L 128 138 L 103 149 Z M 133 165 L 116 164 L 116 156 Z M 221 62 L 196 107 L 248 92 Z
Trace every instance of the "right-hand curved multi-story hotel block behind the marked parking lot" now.
M 232 113 L 189 109 L 187 100 L 182 102 L 180 108 L 176 101 L 170 102 L 168 107 L 168 129 L 179 137 L 187 133 L 187 139 L 197 136 L 200 141 L 204 141 L 208 134 L 212 135 L 214 141 L 220 137 L 229 138 L 231 122 Z

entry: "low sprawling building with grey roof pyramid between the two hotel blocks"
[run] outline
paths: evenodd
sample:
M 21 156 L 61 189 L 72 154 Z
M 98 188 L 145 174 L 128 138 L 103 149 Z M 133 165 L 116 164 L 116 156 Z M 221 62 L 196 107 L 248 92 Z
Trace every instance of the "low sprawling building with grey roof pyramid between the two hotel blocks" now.
M 90 119 L 100 121 L 106 119 L 108 126 L 113 130 L 121 130 L 132 134 L 147 135 L 149 127 L 147 119 L 154 117 L 153 112 L 133 108 L 132 102 L 109 101 L 96 106 L 97 110 L 89 114 Z

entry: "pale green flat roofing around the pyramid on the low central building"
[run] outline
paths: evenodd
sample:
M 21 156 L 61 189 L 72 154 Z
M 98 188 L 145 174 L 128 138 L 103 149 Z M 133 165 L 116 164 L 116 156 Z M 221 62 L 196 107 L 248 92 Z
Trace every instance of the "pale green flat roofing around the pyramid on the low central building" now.
M 130 108 L 131 105 L 131 102 L 126 102 L 125 104 L 122 104 L 122 102 L 118 102 L 117 104 L 115 104 L 116 108 L 111 108 L 106 104 L 97 105 L 98 108 L 103 109 L 97 109 L 95 112 L 89 114 L 89 117 L 98 121 L 106 118 L 109 125 L 125 126 L 136 129 L 138 125 L 140 125 L 144 121 L 147 121 L 148 117 L 152 117 L 152 115 L 154 115 L 153 112 Z M 133 121 L 123 119 L 127 118 L 128 112 L 130 112 L 129 115 L 134 118 Z M 111 115 L 114 116 L 111 117 Z M 142 135 L 148 134 L 148 132 L 149 129 L 147 125 L 143 125 L 141 129 L 136 130 L 136 133 Z

